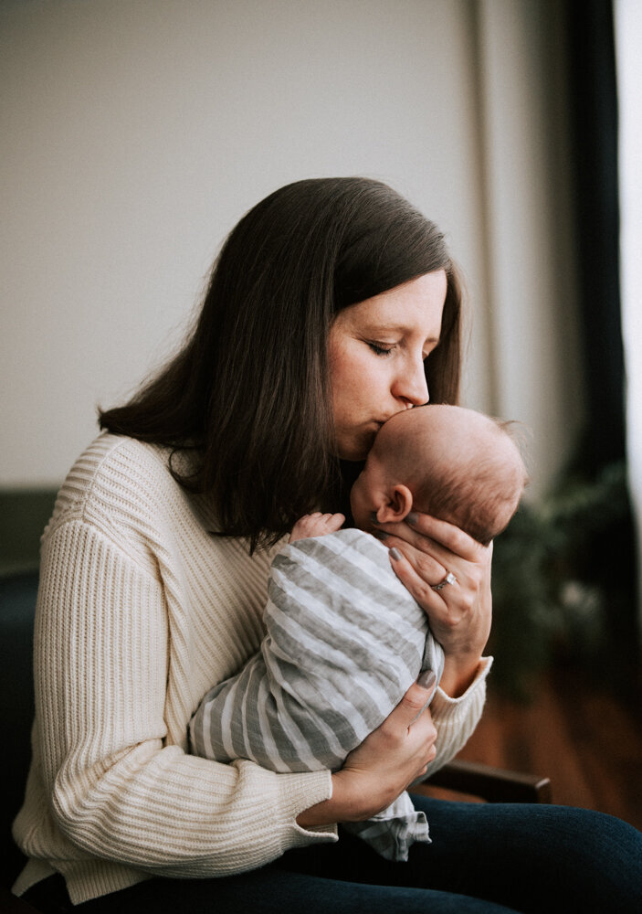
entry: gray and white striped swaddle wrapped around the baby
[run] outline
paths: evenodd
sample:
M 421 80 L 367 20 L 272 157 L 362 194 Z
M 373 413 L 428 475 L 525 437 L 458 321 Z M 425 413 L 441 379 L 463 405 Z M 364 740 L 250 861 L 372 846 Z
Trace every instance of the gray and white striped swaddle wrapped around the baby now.
M 272 562 L 267 637 L 243 670 L 211 689 L 190 723 L 192 750 L 270 771 L 336 771 L 444 654 L 426 614 L 361 530 L 301 539 Z M 348 823 L 384 857 L 429 841 L 406 792 L 367 822 Z

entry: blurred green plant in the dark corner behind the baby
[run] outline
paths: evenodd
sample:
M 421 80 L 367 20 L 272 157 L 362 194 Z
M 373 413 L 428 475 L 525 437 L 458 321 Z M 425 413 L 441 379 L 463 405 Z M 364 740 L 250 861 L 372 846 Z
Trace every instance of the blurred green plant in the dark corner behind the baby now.
M 626 466 L 565 475 L 521 505 L 493 556 L 494 684 L 528 699 L 554 660 L 626 679 L 637 664 L 635 561 Z

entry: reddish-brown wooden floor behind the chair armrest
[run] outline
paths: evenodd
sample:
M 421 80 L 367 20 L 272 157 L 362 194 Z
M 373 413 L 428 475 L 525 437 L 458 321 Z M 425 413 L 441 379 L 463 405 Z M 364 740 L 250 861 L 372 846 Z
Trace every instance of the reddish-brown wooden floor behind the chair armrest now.
M 580 675 L 548 675 L 531 705 L 490 691 L 458 758 L 545 775 L 553 802 L 612 813 L 642 830 L 642 714 Z

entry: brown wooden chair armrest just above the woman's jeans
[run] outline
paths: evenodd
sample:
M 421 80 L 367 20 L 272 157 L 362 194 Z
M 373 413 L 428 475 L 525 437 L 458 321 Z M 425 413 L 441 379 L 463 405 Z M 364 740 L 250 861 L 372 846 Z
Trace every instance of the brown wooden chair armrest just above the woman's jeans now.
M 423 783 L 471 793 L 489 802 L 552 802 L 548 778 L 492 768 L 477 761 L 451 761 Z

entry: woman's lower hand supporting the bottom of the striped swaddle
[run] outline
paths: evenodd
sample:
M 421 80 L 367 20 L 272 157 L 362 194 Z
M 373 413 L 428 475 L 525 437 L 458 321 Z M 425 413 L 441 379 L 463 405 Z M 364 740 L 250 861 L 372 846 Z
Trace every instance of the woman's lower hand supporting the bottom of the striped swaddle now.
M 394 802 L 426 773 L 437 754 L 437 730 L 426 707 L 435 687 L 411 685 L 380 727 L 332 774 L 332 797 L 297 817 L 303 828 L 335 822 L 361 822 Z

